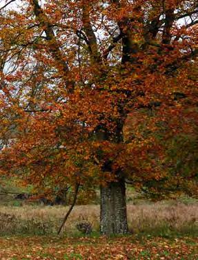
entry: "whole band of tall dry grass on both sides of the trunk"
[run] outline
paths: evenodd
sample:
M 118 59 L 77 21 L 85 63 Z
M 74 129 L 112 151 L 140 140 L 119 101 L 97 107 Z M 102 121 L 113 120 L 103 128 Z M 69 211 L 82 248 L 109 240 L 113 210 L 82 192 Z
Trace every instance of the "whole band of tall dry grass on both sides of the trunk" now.
M 63 206 L 23 206 L 0 207 L 1 234 L 48 234 L 56 232 L 68 207 Z M 14 219 L 6 219 L 6 215 Z M 4 218 L 4 219 L 3 219 Z M 76 206 L 66 223 L 64 232 L 77 232 L 76 224 L 85 219 L 92 223 L 93 230 L 99 231 L 99 206 Z M 154 203 L 141 205 L 128 204 L 128 223 L 132 232 L 196 232 L 198 228 L 198 205 L 192 203 Z

